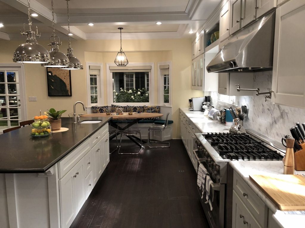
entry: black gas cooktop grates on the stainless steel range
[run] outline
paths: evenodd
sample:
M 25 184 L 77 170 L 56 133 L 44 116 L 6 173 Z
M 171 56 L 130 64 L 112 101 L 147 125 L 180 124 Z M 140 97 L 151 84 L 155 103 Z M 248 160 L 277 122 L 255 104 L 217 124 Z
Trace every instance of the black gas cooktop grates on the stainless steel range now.
M 245 161 L 281 161 L 283 156 L 250 135 L 206 133 L 203 137 L 223 159 Z

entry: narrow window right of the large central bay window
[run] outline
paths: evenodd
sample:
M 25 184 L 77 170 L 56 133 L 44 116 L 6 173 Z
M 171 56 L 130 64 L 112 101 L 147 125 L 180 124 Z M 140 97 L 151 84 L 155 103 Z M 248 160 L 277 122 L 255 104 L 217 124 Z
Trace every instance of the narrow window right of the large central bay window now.
M 159 105 L 171 105 L 171 84 L 170 84 L 170 62 L 158 63 L 159 79 L 160 79 L 160 93 Z

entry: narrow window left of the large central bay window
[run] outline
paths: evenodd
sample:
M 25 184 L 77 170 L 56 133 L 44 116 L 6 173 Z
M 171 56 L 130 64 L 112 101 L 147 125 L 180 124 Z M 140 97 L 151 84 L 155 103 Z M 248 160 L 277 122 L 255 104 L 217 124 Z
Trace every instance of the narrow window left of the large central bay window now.
M 102 105 L 102 74 L 101 63 L 86 63 L 87 67 L 87 88 L 88 88 L 88 105 Z

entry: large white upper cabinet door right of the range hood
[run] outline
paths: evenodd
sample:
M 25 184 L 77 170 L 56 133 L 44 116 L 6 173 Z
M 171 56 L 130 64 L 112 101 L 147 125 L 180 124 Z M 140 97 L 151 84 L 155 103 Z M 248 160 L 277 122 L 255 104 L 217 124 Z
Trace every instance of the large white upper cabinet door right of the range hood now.
M 305 46 L 303 39 L 293 39 L 291 34 L 305 37 L 304 26 L 293 26 L 305 21 L 305 1 L 290 0 L 276 10 L 274 57 L 272 77 L 272 102 L 305 107 Z

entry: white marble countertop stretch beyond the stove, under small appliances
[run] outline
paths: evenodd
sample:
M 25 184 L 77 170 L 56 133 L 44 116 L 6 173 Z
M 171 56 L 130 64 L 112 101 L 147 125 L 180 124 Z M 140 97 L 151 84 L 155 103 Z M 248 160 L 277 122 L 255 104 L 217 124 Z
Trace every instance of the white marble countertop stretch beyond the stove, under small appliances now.
M 224 132 L 228 133 L 230 127 L 225 126 L 218 120 L 212 120 L 208 116 L 203 116 L 203 112 L 189 111 L 188 108 L 180 108 L 182 112 L 196 125 L 201 133 Z

